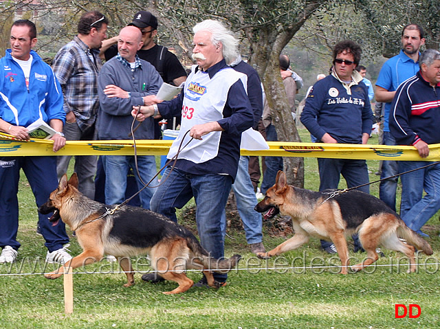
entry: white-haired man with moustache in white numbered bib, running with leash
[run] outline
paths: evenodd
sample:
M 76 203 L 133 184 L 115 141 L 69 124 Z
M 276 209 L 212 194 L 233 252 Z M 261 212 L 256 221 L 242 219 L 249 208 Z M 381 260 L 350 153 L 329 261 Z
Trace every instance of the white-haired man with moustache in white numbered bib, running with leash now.
M 235 179 L 240 157 L 241 133 L 253 124 L 252 106 L 246 95 L 245 74 L 228 67 L 238 55 L 236 38 L 221 23 L 203 21 L 193 28 L 193 65 L 184 89 L 174 100 L 141 106 L 137 120 L 181 113 L 181 129 L 168 152 L 177 155 L 175 168 L 166 168 L 153 198 L 151 210 L 177 222 L 176 208 L 195 198 L 201 245 L 214 258 L 222 258 L 222 212 Z M 133 109 L 136 115 L 137 107 Z M 188 133 L 187 133 L 188 132 Z M 193 140 L 191 140 L 193 138 Z M 224 218 L 223 218 L 224 220 Z M 226 284 L 226 273 L 214 273 L 217 286 Z M 143 280 L 157 282 L 153 273 Z M 207 286 L 206 277 L 195 284 Z

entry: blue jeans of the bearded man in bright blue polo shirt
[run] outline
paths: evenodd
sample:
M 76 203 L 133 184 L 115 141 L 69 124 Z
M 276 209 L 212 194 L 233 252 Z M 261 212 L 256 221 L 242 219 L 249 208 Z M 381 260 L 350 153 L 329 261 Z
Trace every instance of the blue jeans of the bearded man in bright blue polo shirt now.
M 382 135 L 382 144 L 384 145 L 395 145 L 395 139 L 389 131 L 384 131 Z M 393 176 L 399 173 L 399 166 L 397 161 L 383 161 L 382 162 L 382 173 L 380 174 L 380 179 Z M 391 179 L 386 179 L 379 183 L 379 198 L 388 205 L 391 209 L 396 211 L 396 190 L 397 190 L 397 180 L 398 177 L 393 177 Z

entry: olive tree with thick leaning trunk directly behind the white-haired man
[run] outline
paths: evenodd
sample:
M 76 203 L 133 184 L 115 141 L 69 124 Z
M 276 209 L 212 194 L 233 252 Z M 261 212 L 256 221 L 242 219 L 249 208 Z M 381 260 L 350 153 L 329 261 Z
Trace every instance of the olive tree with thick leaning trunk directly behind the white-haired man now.
M 279 74 L 278 57 L 307 19 L 327 1 L 181 1 L 161 0 L 154 4 L 162 17 L 188 33 L 188 27 L 203 19 L 224 21 L 249 45 L 250 64 L 259 72 L 267 102 L 272 110 L 272 124 L 278 139 L 300 141 L 287 104 L 287 97 Z M 173 12 L 164 8 L 174 8 Z M 304 172 L 301 159 L 285 158 L 288 181 L 303 186 Z

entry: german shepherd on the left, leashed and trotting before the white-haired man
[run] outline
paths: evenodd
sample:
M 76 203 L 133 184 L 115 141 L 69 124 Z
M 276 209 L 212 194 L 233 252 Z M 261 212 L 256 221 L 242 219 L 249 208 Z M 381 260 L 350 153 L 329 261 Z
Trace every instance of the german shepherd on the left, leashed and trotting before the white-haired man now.
M 165 294 L 183 293 L 194 282 L 184 273 L 185 269 L 201 269 L 209 286 L 218 287 L 214 280 L 213 269 L 229 270 L 236 266 L 241 256 L 229 259 L 211 258 L 201 247 L 195 236 L 181 225 L 173 223 L 165 216 L 140 207 L 124 205 L 107 214 L 106 209 L 115 206 L 103 205 L 78 192 L 78 177 L 74 173 L 67 181 L 67 175 L 61 178 L 58 188 L 39 208 L 41 214 L 54 215 L 49 220 L 54 225 L 61 218 L 76 232 L 83 253 L 66 262 L 52 273 L 45 274 L 47 279 L 56 279 L 64 273 L 64 268 L 98 262 L 104 253 L 118 258 L 128 282 L 134 284 L 133 268 L 130 257 L 149 254 L 152 266 L 165 280 L 175 281 L 179 286 Z

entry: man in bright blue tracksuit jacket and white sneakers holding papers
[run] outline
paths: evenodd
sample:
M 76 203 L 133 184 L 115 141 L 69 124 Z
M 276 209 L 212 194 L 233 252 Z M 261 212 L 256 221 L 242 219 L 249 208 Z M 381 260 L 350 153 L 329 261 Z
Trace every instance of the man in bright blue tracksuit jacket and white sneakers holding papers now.
M 54 152 L 63 148 L 63 93 L 49 65 L 32 50 L 36 44 L 34 23 L 15 21 L 11 28 L 11 49 L 0 59 L 0 131 L 18 139 L 29 139 L 28 129 L 39 118 L 57 133 L 51 137 Z M 14 262 L 20 243 L 19 228 L 20 169 L 23 169 L 34 193 L 36 205 L 43 205 L 58 186 L 56 157 L 0 157 L 0 263 Z M 67 262 L 72 256 L 63 249 L 69 242 L 64 223 L 57 225 L 39 214 L 41 234 L 47 247 L 47 262 Z

